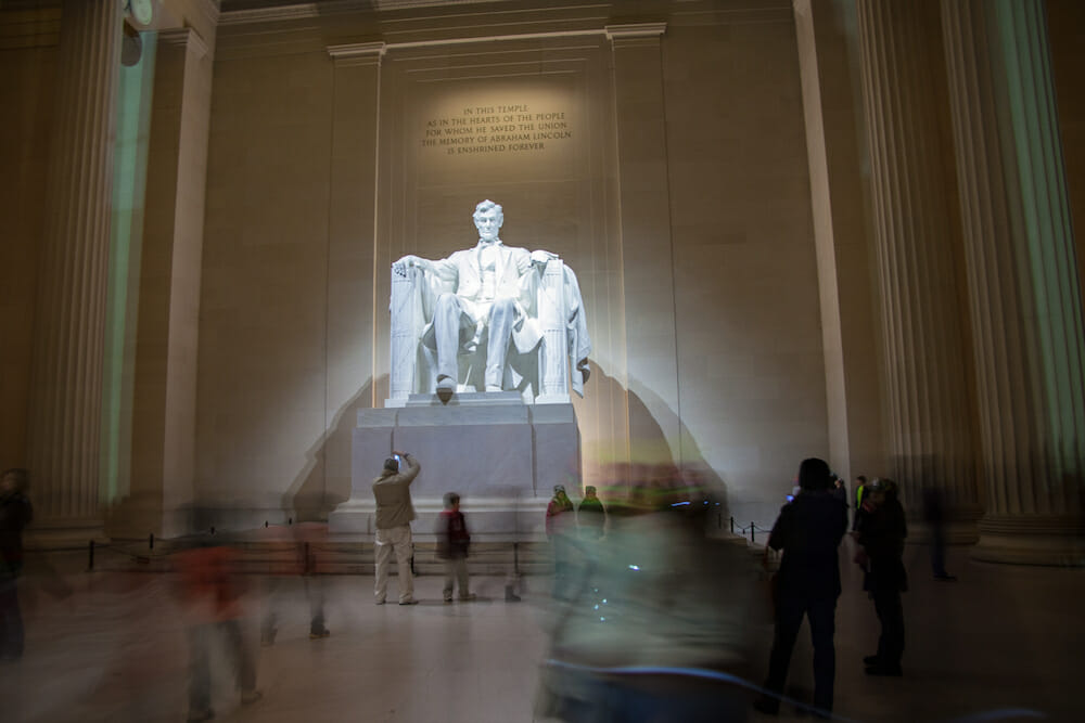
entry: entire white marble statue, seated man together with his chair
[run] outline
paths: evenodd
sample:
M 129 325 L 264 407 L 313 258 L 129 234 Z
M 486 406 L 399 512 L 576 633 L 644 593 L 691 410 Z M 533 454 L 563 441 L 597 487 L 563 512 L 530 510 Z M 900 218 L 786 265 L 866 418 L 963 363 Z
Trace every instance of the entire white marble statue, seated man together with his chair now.
M 392 401 L 468 390 L 567 401 L 569 360 L 583 396 L 591 340 L 576 275 L 550 251 L 506 246 L 498 204 L 480 203 L 473 218 L 473 248 L 392 264 Z

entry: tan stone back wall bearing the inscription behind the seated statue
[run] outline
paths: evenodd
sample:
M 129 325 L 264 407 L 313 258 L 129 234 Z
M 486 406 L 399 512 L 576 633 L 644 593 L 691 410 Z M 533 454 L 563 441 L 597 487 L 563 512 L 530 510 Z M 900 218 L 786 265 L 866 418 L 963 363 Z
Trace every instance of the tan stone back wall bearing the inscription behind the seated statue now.
M 409 35 L 386 31 L 383 48 L 316 18 L 224 15 L 201 296 L 206 519 L 348 496 L 354 411 L 387 397 L 388 266 L 473 245 L 471 210 L 490 197 L 507 243 L 579 276 L 595 341 L 576 401 L 585 482 L 613 481 L 628 456 L 673 461 L 725 486 L 737 516 L 771 521 L 797 462 L 829 453 L 793 14 L 684 10 L 643 34 L 527 13 L 505 28 L 527 39 L 501 42 L 461 42 L 490 15 L 459 29 L 417 13 L 385 20 Z

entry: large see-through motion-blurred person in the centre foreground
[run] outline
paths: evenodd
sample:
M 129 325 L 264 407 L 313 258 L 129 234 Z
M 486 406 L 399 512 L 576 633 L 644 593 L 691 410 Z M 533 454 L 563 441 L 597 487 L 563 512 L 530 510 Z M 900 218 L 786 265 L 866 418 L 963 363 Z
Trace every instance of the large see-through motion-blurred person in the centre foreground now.
M 553 616 L 536 719 L 741 721 L 757 630 L 753 560 L 705 535 L 697 491 L 658 468 L 631 480 L 627 499 L 608 498 L 605 537 L 571 543 L 586 563 Z

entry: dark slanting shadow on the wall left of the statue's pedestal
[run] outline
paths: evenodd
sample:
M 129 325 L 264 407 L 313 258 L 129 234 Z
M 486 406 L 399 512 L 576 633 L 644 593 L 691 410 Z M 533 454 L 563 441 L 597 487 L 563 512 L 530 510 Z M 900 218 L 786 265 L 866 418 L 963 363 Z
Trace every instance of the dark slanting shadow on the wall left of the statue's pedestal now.
M 368 400 L 372 388 L 370 377 L 336 410 L 331 425 L 305 452 L 305 465 L 282 494 L 284 518 L 293 517 L 297 522 L 327 521 L 328 513 L 350 498 L 350 439 L 357 411 L 368 408 L 358 400 Z M 330 455 L 335 456 L 330 460 Z M 346 470 L 345 489 L 335 485 L 336 475 L 329 475 L 329 469 L 340 468 Z M 330 481 L 334 487 L 329 487 Z

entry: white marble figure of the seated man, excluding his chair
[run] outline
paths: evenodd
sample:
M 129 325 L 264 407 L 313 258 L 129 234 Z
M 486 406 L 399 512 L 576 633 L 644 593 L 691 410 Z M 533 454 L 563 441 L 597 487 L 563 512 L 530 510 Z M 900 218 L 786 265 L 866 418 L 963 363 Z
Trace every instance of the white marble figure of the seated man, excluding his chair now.
M 513 354 L 529 354 L 544 338 L 540 281 L 546 266 L 558 259 L 550 251 L 506 246 L 499 236 L 505 215 L 501 206 L 492 201 L 475 207 L 473 220 L 478 230 L 478 243 L 473 248 L 438 260 L 408 255 L 392 266 L 393 272 L 403 277 L 412 268 L 422 272 L 419 306 L 424 311 L 419 327 L 412 331 L 418 334 L 423 356 L 433 361 L 435 389 L 444 401 L 468 386 L 461 384 L 459 357 L 481 349 L 486 353 L 482 379 L 476 385 L 482 387 L 480 391 L 502 391 L 521 385 L 523 374 L 516 364 L 510 364 L 510 347 Z M 566 333 L 567 352 L 575 364 L 573 387 L 582 392 L 589 374 L 591 341 L 576 276 L 567 267 L 562 273 L 560 301 L 565 318 L 558 323 Z

